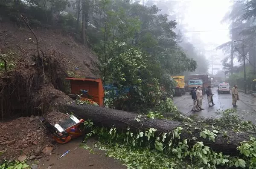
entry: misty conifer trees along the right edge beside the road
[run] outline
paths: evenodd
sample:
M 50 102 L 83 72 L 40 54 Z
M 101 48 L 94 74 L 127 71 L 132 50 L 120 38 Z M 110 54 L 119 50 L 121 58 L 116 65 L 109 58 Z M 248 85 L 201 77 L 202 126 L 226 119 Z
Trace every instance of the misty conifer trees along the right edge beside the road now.
M 233 5 L 226 16 L 224 16 L 223 21 L 230 24 L 230 41 L 227 43 L 218 46 L 218 49 L 222 49 L 227 57 L 223 60 L 223 65 L 227 67 L 231 74 L 230 80 L 235 83 L 235 78 L 239 77 L 236 73 L 236 69 L 233 66 L 234 60 L 242 62 L 244 57 L 241 55 L 241 46 L 245 46 L 245 62 L 248 64 L 250 70 L 248 72 L 247 86 L 250 89 L 255 90 L 255 84 L 253 84 L 252 75 L 256 72 L 256 29 L 255 29 L 255 2 L 252 0 L 241 0 L 234 1 Z M 240 40 L 236 42 L 235 49 L 235 40 Z M 241 71 L 242 72 L 242 71 Z M 233 75 L 234 74 L 234 75 Z M 238 82 L 236 82 L 238 83 Z M 240 83 L 243 84 L 243 80 L 240 80 Z M 243 85 L 241 85 L 243 86 Z

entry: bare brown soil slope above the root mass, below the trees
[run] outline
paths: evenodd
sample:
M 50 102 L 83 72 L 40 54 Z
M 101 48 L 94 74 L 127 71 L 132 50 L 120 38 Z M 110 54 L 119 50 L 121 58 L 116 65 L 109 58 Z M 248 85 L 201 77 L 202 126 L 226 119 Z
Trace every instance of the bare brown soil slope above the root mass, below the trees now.
M 31 53 L 36 53 L 36 40 L 27 28 L 16 28 L 11 23 L 0 25 L 0 52 L 9 50 L 23 55 L 30 60 Z M 64 36 L 60 29 L 34 29 L 42 51 L 51 51 L 58 55 L 58 62 L 67 66 L 69 76 L 99 77 L 98 60 L 88 47 L 76 43 L 73 37 Z M 78 69 L 77 69 L 78 68 Z

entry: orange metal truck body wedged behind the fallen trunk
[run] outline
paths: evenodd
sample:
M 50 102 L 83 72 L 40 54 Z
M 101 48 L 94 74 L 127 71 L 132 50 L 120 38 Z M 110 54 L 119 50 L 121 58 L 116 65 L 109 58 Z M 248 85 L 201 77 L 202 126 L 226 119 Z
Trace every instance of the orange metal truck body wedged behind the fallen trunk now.
M 80 95 L 81 90 L 87 90 L 92 100 L 99 106 L 103 106 L 104 90 L 101 79 L 68 77 L 66 80 L 70 80 L 72 94 Z M 83 94 L 81 97 L 87 98 L 88 96 Z

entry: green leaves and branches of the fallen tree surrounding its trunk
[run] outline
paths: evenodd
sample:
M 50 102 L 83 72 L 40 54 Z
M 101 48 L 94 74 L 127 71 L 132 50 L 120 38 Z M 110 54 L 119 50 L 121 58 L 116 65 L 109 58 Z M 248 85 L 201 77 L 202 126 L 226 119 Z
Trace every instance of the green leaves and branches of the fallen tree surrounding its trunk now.
M 232 137 L 227 132 L 232 129 L 235 132 L 253 132 L 254 124 L 249 121 L 242 121 L 234 110 L 227 109 L 222 112 L 223 116 L 217 119 L 204 119 L 199 117 L 186 117 L 177 108 L 172 106 L 172 101 L 168 100 L 160 104 L 158 112 L 149 112 L 149 118 L 161 118 L 182 121 L 186 126 L 200 124 L 201 130 L 198 137 L 215 142 L 217 133 L 222 133 L 222 137 Z M 176 111 L 174 111 L 176 109 Z M 165 117 L 163 112 L 171 112 L 169 117 Z M 139 118 L 137 120 L 139 123 Z M 237 154 L 225 154 L 224 152 L 214 152 L 204 142 L 197 141 L 197 137 L 180 139 L 180 134 L 184 129 L 177 127 L 173 132 L 156 135 L 157 129 L 149 128 L 145 131 L 120 131 L 113 128 L 106 129 L 93 125 L 91 120 L 84 123 L 85 129 L 90 131 L 82 147 L 95 153 L 94 149 L 106 151 L 106 155 L 120 160 L 128 169 L 226 169 L 226 168 L 254 168 L 256 167 L 256 138 L 250 137 L 237 145 Z M 211 128 L 211 129 L 209 129 Z M 86 145 L 87 139 L 96 137 L 98 142 L 89 147 Z M 232 138 L 231 138 L 232 139 Z M 189 144 L 191 140 L 195 143 Z M 190 142 L 191 143 L 191 142 Z

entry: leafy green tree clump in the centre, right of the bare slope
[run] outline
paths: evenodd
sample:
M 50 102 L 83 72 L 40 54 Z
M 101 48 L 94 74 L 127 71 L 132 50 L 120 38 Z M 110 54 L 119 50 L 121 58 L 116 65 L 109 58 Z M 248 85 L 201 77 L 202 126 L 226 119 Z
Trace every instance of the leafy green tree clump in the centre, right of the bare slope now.
M 96 43 L 95 51 L 101 60 L 102 76 L 105 83 L 122 84 L 118 85 L 120 87 L 134 86 L 137 91 L 134 98 L 136 97 L 137 101 L 147 102 L 151 100 L 149 97 L 152 95 L 160 97 L 159 88 L 162 85 L 165 86 L 169 94 L 172 93 L 175 84 L 166 82 L 171 80 L 171 75 L 195 70 L 197 66 L 195 61 L 187 58 L 183 50 L 177 46 L 174 32 L 177 23 L 169 21 L 166 14 L 157 14 L 160 9 L 156 6 L 147 7 L 137 3 L 130 4 L 126 1 L 108 1 L 100 4 L 99 8 L 106 15 L 103 15 L 102 26 L 99 24 L 101 17 L 96 18 L 98 20 L 96 25 L 101 28 L 98 28 L 100 31 L 96 33 L 99 43 Z M 115 72 L 113 65 L 125 63 L 127 59 L 123 56 L 130 53 L 130 48 L 148 55 L 145 57 L 147 58 L 145 60 L 147 73 L 140 72 L 140 78 L 138 78 L 141 80 L 140 84 L 128 83 L 129 80 L 125 77 L 129 76 L 125 72 L 119 72 L 119 75 L 113 74 Z M 127 58 L 133 58 L 133 56 L 130 55 Z M 115 64 L 114 62 L 117 60 L 118 63 Z M 134 61 L 134 63 L 136 62 Z M 125 67 L 125 65 L 121 67 Z M 121 83 L 116 81 L 120 74 L 123 74 L 122 78 L 125 78 L 125 80 L 120 78 Z M 166 78 L 168 76 L 169 78 Z M 149 90 L 151 90 L 149 93 L 154 94 L 149 96 L 147 92 Z

